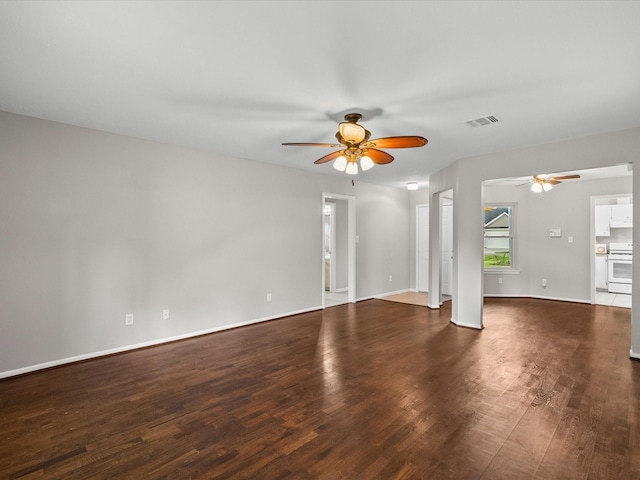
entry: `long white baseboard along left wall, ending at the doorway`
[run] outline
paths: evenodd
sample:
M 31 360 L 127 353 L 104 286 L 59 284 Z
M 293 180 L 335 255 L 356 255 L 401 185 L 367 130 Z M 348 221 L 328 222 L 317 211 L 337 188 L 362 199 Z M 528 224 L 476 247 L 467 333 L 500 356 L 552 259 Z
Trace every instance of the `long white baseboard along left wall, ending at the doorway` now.
M 28 367 L 17 368 L 15 370 L 8 370 L 6 372 L 0 372 L 0 379 L 9 378 L 9 377 L 15 377 L 17 375 L 23 375 L 25 373 L 36 372 L 38 370 L 44 370 L 46 368 L 59 367 L 61 365 L 66 365 L 66 364 L 69 364 L 69 363 L 80 362 L 80 361 L 83 361 L 83 360 L 90 360 L 90 359 L 93 359 L 93 358 L 104 357 L 104 356 L 113 355 L 113 354 L 116 354 L 116 353 L 123 353 L 123 352 L 128 352 L 128 351 L 131 351 L 131 350 L 138 350 L 140 348 L 152 347 L 152 346 L 155 346 L 155 345 L 162 345 L 164 343 L 175 342 L 175 341 L 184 340 L 184 339 L 187 339 L 187 338 L 199 337 L 199 336 L 202 336 L 202 335 L 208 335 L 208 334 L 211 334 L 211 333 L 220 332 L 222 330 L 231 330 L 232 328 L 244 327 L 244 326 L 247 326 L 247 325 L 253 325 L 255 323 L 268 322 L 269 320 L 276 320 L 276 319 L 279 319 L 279 318 L 289 317 L 289 316 L 292 316 L 292 315 L 299 315 L 301 313 L 314 312 L 316 310 L 322 310 L 322 306 L 318 305 L 317 307 L 305 308 L 303 310 L 296 310 L 295 312 L 283 313 L 283 314 L 280 314 L 280 315 L 272 315 L 270 317 L 263 317 L 263 318 L 258 318 L 258 319 L 255 319 L 255 320 L 247 320 L 245 322 L 230 323 L 230 324 L 227 324 L 227 325 L 222 325 L 220 327 L 208 328 L 208 329 L 199 330 L 199 331 L 196 331 L 196 332 L 185 333 L 185 334 L 182 334 L 182 335 L 176 335 L 174 337 L 166 337 L 166 338 L 161 338 L 161 339 L 158 339 L 158 340 L 151 340 L 151 341 L 148 341 L 148 342 L 136 343 L 136 344 L 133 344 L 133 345 L 126 345 L 124 347 L 111 348 L 109 350 L 101 350 L 99 352 L 91 352 L 91 353 L 85 353 L 85 354 L 82 354 L 82 355 L 76 355 L 76 356 L 73 356 L 73 357 L 61 358 L 61 359 L 58 359 L 58 360 L 53 360 L 51 362 L 39 363 L 37 365 L 30 365 Z

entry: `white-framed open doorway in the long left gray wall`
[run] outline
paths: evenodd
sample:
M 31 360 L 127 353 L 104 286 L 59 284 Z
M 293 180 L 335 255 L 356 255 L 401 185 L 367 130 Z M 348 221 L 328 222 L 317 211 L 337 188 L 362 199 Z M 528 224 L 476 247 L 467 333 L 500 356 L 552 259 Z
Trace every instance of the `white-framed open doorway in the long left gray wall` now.
M 355 302 L 355 197 L 322 197 L 322 306 Z

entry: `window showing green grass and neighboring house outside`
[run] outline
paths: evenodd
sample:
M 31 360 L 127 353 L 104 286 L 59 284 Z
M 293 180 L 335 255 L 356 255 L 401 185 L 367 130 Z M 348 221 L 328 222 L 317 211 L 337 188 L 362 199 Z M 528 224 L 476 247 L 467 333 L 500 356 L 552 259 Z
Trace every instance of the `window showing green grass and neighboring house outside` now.
M 484 268 L 513 268 L 515 205 L 484 207 Z

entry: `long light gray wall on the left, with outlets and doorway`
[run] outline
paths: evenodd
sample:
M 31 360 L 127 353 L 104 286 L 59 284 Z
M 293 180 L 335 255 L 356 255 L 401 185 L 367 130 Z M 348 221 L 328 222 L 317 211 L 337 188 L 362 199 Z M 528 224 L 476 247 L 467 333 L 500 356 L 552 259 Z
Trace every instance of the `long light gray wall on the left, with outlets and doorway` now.
M 322 192 L 357 297 L 409 287 L 404 190 L 1 112 L 0 182 L 0 376 L 319 308 Z

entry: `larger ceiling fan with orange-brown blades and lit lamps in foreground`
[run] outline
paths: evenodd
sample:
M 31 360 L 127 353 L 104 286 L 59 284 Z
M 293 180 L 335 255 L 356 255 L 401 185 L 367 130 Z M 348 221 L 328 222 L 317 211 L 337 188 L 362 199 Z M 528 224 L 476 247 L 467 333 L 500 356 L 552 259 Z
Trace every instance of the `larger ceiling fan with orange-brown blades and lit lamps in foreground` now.
M 371 132 L 358 121 L 362 118 L 359 113 L 347 113 L 344 122 L 338 125 L 336 139 L 339 143 L 283 143 L 286 146 L 298 147 L 331 147 L 340 150 L 325 155 L 313 163 L 333 162 L 333 167 L 351 175 L 358 173 L 358 162 L 362 171 L 369 170 L 374 165 L 384 165 L 393 162 L 393 157 L 380 148 L 414 148 L 423 147 L 427 139 L 418 136 L 385 137 L 369 140 Z

